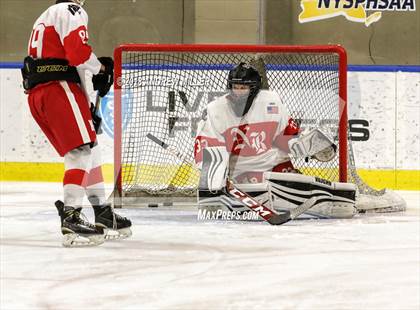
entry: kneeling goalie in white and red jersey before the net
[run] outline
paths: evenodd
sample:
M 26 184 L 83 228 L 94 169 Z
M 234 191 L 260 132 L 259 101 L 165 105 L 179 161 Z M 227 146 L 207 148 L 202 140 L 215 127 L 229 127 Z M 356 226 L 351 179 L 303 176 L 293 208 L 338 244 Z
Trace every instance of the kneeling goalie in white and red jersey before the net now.
M 295 170 L 289 154 L 323 161 L 335 156 L 335 145 L 320 130 L 307 136 L 290 117 L 280 96 L 261 89 L 262 79 L 252 66 L 240 63 L 229 72 L 229 93 L 207 106 L 195 141 L 195 160 L 201 167 L 200 205 L 221 203 L 238 208 L 220 191 L 227 173 L 236 185 L 275 209 L 289 209 L 316 196 L 307 213 L 317 217 L 349 218 L 356 213 L 355 186 L 304 176 Z M 292 151 L 291 151 L 292 149 Z M 246 210 L 246 208 L 244 208 Z

